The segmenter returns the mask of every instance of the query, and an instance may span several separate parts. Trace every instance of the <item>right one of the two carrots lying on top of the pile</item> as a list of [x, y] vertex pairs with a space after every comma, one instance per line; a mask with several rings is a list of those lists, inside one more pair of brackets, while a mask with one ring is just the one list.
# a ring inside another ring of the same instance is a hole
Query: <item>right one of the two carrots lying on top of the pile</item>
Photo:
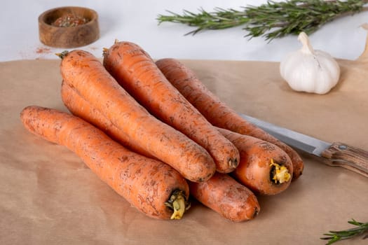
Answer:
[[150, 113], [203, 146], [217, 172], [229, 173], [238, 166], [236, 147], [168, 82], [139, 45], [116, 42], [105, 50], [104, 66]]

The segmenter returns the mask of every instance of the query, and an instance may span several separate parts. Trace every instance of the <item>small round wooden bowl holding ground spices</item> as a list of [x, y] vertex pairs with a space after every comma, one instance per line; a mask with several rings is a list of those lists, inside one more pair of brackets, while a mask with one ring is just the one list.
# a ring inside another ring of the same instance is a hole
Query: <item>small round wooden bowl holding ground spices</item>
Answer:
[[[67, 15], [85, 21], [74, 26], [55, 26], [57, 20]], [[95, 10], [61, 7], [47, 10], [39, 15], [39, 39], [45, 45], [55, 48], [76, 48], [93, 43], [99, 37], [98, 15]]]

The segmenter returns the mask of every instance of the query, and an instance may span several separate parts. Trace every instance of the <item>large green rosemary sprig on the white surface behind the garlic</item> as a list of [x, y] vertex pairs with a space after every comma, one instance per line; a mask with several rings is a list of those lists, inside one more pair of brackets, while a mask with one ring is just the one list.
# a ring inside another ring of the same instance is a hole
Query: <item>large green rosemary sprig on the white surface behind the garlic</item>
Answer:
[[245, 25], [245, 36], [264, 36], [266, 40], [280, 38], [301, 31], [311, 34], [322, 25], [336, 18], [353, 15], [368, 10], [364, 5], [368, 0], [287, 0], [267, 1], [261, 6], [233, 8], [214, 8], [199, 13], [183, 10], [182, 15], [168, 11], [170, 15], [158, 15], [158, 23], [175, 22], [197, 27], [187, 34], [197, 34], [205, 29], [226, 29]]

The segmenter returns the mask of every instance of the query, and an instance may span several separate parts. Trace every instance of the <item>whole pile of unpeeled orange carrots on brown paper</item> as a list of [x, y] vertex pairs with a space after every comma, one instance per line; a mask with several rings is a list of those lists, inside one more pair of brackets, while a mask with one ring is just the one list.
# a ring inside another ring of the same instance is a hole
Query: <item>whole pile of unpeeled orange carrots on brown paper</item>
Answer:
[[259, 214], [257, 195], [286, 190], [299, 155], [248, 123], [176, 59], [153, 59], [127, 41], [60, 54], [71, 113], [27, 106], [30, 132], [76, 153], [147, 216], [179, 219], [196, 198], [231, 221]]

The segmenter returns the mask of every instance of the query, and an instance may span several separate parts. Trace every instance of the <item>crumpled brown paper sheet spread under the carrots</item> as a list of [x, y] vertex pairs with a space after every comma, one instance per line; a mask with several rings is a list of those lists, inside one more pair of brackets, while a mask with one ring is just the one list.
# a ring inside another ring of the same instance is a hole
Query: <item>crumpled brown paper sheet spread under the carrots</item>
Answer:
[[[341, 81], [325, 95], [290, 90], [276, 62], [183, 62], [241, 113], [368, 150], [368, 72], [348, 70], [349, 61], [339, 61]], [[259, 197], [252, 221], [232, 223], [197, 202], [181, 221], [144, 216], [74, 153], [22, 127], [25, 106], [67, 111], [59, 64], [0, 63], [0, 244], [325, 244], [324, 232], [351, 228], [351, 218], [368, 221], [368, 179], [308, 155], [284, 193]]]

